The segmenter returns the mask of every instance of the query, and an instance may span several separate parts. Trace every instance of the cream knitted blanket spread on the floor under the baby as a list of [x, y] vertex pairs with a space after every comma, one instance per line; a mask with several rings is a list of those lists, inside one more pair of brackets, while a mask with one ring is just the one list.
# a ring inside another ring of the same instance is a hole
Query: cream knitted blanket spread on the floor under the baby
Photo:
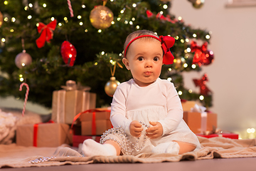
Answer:
[[[213, 158], [256, 157], [256, 139], [233, 140], [229, 138], [201, 138], [202, 149], [196, 152], [187, 152], [183, 155], [144, 153], [138, 156], [93, 156], [82, 157], [79, 152], [62, 145], [60, 147], [21, 147], [16, 144], [0, 145], [1, 167], [41, 167], [53, 165], [82, 165], [89, 163], [153, 163], [178, 162], [181, 160], [202, 160]], [[43, 157], [52, 157], [46, 162], [36, 161]]]

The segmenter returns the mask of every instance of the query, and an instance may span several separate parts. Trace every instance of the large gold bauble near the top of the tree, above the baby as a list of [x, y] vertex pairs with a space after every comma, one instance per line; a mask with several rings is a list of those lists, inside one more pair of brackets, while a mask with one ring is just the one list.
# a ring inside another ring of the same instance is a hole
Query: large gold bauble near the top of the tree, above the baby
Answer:
[[105, 29], [111, 26], [114, 14], [107, 6], [96, 6], [90, 12], [90, 22], [97, 29]]

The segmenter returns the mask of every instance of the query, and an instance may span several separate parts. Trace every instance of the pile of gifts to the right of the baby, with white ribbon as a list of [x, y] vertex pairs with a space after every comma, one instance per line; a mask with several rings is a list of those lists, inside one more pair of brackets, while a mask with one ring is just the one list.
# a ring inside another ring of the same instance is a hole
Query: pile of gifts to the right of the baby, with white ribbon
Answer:
[[206, 112], [206, 108], [196, 104], [195, 101], [182, 102], [183, 120], [198, 136], [205, 138], [225, 137], [238, 139], [238, 134], [223, 133], [217, 128], [217, 114]]

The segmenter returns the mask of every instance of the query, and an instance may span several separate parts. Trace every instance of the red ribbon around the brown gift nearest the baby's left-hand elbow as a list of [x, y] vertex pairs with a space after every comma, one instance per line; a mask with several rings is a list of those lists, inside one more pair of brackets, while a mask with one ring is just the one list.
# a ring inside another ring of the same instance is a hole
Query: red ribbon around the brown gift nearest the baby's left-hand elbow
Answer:
[[90, 110], [85, 110], [81, 113], [78, 113], [78, 115], [75, 115], [73, 122], [71, 124], [70, 134], [72, 133], [75, 120], [77, 120], [80, 117], [80, 115], [82, 115], [83, 113], [92, 113], [92, 135], [96, 135], [96, 113], [97, 112], [110, 112], [110, 111], [111, 110], [90, 109]]

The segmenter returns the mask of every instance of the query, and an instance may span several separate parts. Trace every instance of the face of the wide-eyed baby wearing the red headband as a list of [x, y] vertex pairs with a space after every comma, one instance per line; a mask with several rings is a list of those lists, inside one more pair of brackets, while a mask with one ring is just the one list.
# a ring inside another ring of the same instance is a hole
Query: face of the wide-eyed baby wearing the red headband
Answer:
[[123, 58], [123, 62], [139, 86], [149, 86], [159, 78], [163, 65], [160, 41], [154, 38], [139, 38], [131, 43], [127, 58]]

